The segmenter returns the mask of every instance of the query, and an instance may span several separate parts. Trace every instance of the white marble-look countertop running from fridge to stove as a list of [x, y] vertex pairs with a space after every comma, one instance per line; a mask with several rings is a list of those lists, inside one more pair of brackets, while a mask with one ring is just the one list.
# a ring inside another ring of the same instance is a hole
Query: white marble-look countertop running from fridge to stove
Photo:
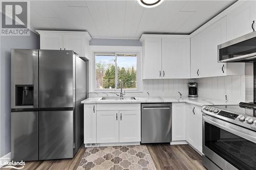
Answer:
[[216, 99], [207, 99], [207, 98], [177, 98], [175, 96], [168, 97], [136, 97], [138, 100], [100, 100], [101, 98], [88, 98], [83, 100], [83, 104], [104, 104], [104, 103], [190, 103], [198, 106], [203, 105], [237, 105], [237, 102], [216, 100]]

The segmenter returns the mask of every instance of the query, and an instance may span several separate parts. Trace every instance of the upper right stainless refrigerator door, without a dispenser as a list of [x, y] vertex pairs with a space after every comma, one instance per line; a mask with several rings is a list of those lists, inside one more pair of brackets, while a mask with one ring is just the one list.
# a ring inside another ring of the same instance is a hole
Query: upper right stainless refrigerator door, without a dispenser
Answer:
[[40, 108], [74, 107], [73, 58], [73, 51], [39, 50]]

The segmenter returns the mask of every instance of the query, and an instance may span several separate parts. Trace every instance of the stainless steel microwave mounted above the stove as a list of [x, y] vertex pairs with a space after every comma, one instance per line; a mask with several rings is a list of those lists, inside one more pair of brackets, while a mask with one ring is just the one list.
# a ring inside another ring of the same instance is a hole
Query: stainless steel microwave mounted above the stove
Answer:
[[256, 31], [218, 45], [218, 62], [256, 61]]

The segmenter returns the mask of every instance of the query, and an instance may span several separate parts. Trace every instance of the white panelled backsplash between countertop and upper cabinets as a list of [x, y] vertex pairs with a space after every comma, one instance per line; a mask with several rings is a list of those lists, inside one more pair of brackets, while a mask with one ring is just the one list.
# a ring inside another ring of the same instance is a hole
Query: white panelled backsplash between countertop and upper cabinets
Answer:
[[[202, 98], [242, 102], [245, 101], [245, 76], [226, 76], [200, 79], [143, 80], [143, 92], [126, 92], [125, 96], [188, 96], [188, 82], [198, 83], [198, 96]], [[118, 93], [119, 91], [116, 91]], [[105, 96], [106, 93], [90, 93], [90, 97]], [[108, 95], [115, 95], [108, 93]]]

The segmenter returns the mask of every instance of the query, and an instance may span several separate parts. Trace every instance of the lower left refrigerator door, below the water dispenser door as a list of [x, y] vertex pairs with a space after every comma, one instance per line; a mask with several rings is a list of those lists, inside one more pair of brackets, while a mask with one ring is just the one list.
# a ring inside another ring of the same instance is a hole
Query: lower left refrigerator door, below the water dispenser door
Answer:
[[11, 113], [11, 159], [38, 160], [38, 112]]

